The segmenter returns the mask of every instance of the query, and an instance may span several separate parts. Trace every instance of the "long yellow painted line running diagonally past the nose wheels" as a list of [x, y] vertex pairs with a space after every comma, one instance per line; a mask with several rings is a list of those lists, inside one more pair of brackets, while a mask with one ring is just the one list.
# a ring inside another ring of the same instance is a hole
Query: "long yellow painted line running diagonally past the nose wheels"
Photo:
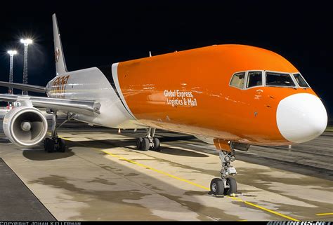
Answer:
[[[59, 136], [59, 137], [60, 137], [60, 136]], [[62, 138], [63, 138], [63, 137], [62, 137]], [[65, 139], [65, 138], [63, 138], [63, 139]], [[70, 139], [67, 139], [67, 140], [70, 141]], [[81, 144], [81, 143], [80, 143], [80, 144]], [[86, 146], [85, 144], [81, 144], [81, 145]], [[86, 146], [86, 147], [89, 147], [89, 146]], [[90, 147], [89, 147], [89, 148], [90, 148]], [[96, 148], [94, 148], [94, 149], [96, 149]], [[107, 151], [105, 151], [105, 150], [103, 150], [103, 149], [97, 149], [97, 150], [98, 150], [98, 151], [103, 151], [103, 153], [105, 153], [105, 154], [107, 154], [107, 155], [109, 155], [109, 156], [113, 156], [113, 157], [115, 157], [115, 158], [122, 159], [123, 161], [127, 161], [127, 162], [129, 162], [129, 163], [133, 163], [133, 164], [135, 164], [135, 165], [141, 166], [142, 168], [146, 168], [146, 169], [149, 169], [149, 170], [152, 170], [152, 171], [158, 172], [159, 174], [166, 175], [166, 176], [168, 176], [168, 177], [172, 177], [172, 178], [174, 178], [174, 179], [178, 179], [178, 180], [180, 180], [180, 181], [182, 181], [182, 182], [186, 182], [186, 183], [188, 183], [188, 184], [192, 184], [192, 185], [194, 185], [194, 186], [197, 186], [197, 187], [200, 187], [200, 188], [205, 189], [205, 190], [207, 190], [207, 191], [210, 191], [210, 189], [207, 188], [206, 186], [202, 186], [202, 185], [200, 185], [200, 184], [195, 184], [194, 182], [190, 182], [190, 181], [187, 180], [187, 179], [183, 179], [183, 178], [181, 178], [181, 177], [176, 177], [176, 176], [174, 176], [174, 175], [170, 175], [170, 174], [167, 173], [167, 172], [163, 172], [163, 171], [161, 171], [161, 170], [157, 170], [157, 169], [152, 168], [152, 167], [150, 167], [150, 166], [148, 166], [148, 165], [144, 165], [144, 164], [141, 164], [141, 163], [137, 163], [136, 161], [131, 161], [131, 160], [128, 159], [128, 158], [124, 158], [124, 157], [122, 157], [122, 156], [118, 156], [118, 155], [116, 155], [116, 154], [112, 154], [112, 153], [107, 152]], [[242, 202], [242, 203], [244, 203], [244, 204], [251, 205], [252, 207], [259, 208], [260, 210], [263, 210], [263, 211], [270, 212], [270, 213], [272, 213], [272, 214], [278, 215], [278, 216], [280, 216], [280, 217], [284, 217], [284, 218], [289, 219], [289, 220], [292, 220], [292, 221], [299, 221], [298, 219], [294, 219], [294, 218], [292, 218], [292, 217], [288, 217], [287, 215], [285, 215], [285, 214], [281, 214], [280, 212], [275, 212], [275, 211], [273, 211], [273, 210], [268, 210], [266, 207], [262, 207], [262, 206], [260, 206], [260, 205], [256, 205], [256, 204], [254, 204], [254, 203], [250, 203], [250, 202], [245, 201], [245, 200], [242, 200], [242, 199], [240, 199], [240, 198], [236, 198], [236, 197], [233, 197], [233, 196], [227, 196], [227, 197], [228, 197], [228, 198], [232, 198], [233, 200], [240, 201], [240, 202]]]

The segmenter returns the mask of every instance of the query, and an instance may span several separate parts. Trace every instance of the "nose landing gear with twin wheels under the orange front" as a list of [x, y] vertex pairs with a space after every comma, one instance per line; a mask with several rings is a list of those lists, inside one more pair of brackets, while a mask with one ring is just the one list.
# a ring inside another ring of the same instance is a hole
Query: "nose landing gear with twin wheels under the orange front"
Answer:
[[221, 159], [221, 178], [214, 178], [211, 180], [211, 191], [209, 192], [214, 196], [232, 196], [237, 193], [237, 183], [233, 177], [236, 175], [236, 169], [230, 162], [235, 161], [235, 150], [231, 149], [228, 151], [220, 151]]

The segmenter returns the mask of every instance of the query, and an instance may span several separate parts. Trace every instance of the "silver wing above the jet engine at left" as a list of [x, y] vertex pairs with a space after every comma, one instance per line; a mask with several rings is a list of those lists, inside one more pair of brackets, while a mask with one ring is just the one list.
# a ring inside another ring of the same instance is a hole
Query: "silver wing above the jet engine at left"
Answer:
[[100, 103], [93, 100], [67, 100], [52, 97], [0, 94], [0, 101], [31, 102], [34, 107], [44, 107], [89, 116], [100, 114]]

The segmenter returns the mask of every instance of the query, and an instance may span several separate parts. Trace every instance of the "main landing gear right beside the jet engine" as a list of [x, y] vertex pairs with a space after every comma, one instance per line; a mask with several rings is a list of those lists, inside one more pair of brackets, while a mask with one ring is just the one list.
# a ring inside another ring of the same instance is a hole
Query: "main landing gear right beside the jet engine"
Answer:
[[[65, 152], [66, 151], [66, 144], [63, 139], [58, 137], [57, 133], [57, 112], [56, 111], [49, 111], [48, 113], [52, 114], [52, 131], [51, 131], [51, 138], [46, 137], [44, 140], [44, 150], [47, 152]], [[68, 120], [64, 121], [59, 125], [66, 123]]]

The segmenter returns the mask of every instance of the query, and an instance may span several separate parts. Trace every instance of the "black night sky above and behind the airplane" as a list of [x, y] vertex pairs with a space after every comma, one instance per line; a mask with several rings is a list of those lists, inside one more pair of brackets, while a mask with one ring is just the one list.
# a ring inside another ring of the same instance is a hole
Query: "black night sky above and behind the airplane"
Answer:
[[3, 2], [1, 81], [8, 81], [6, 52], [15, 48], [20, 55], [14, 59], [14, 82], [22, 83], [22, 36], [34, 39], [28, 83], [45, 86], [55, 76], [51, 15], [56, 13], [69, 70], [147, 57], [149, 50], [159, 55], [213, 44], [257, 46], [292, 62], [332, 118], [333, 10], [328, 1]]

